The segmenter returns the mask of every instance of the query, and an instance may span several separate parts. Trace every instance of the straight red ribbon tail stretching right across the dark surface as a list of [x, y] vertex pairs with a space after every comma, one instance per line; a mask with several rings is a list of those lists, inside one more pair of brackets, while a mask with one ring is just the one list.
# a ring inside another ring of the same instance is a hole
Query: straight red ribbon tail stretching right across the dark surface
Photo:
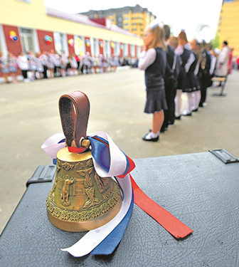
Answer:
[[169, 231], [170, 234], [175, 236], [176, 239], [182, 239], [193, 232], [193, 230], [179, 221], [179, 219], [176, 219], [169, 211], [166, 211], [166, 209], [150, 199], [147, 194], [144, 194], [136, 182], [134, 182], [132, 176], [130, 174], [129, 176], [134, 190], [134, 203], [139, 208], [149, 214], [149, 216], [152, 216], [153, 219], [161, 224], [166, 231]]

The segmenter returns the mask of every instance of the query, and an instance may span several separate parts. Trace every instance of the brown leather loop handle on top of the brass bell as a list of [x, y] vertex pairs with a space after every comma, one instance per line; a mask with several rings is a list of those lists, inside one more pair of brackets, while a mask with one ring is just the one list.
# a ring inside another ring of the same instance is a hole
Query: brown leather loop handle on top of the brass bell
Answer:
[[62, 95], [59, 99], [60, 120], [68, 147], [85, 147], [90, 102], [81, 91]]

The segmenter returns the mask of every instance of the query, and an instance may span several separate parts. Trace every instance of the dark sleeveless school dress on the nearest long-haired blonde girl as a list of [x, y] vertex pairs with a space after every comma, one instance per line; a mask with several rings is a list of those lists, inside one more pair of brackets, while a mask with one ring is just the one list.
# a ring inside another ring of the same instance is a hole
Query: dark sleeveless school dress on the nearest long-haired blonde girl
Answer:
[[156, 111], [167, 110], [164, 74], [166, 70], [166, 52], [163, 48], [155, 48], [156, 59], [145, 70], [145, 85], [147, 90], [147, 101], [144, 112], [154, 113]]

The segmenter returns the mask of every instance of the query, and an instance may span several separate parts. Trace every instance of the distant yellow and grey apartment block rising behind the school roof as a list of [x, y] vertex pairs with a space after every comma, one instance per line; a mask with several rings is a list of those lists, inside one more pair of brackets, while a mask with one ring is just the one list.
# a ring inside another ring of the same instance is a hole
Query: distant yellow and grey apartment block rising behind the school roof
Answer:
[[124, 6], [119, 9], [90, 10], [80, 14], [88, 16], [92, 21], [105, 19], [106, 23], [112, 23], [129, 33], [134, 33], [141, 37], [144, 35], [144, 28], [156, 19], [152, 12], [138, 4], [136, 6]]

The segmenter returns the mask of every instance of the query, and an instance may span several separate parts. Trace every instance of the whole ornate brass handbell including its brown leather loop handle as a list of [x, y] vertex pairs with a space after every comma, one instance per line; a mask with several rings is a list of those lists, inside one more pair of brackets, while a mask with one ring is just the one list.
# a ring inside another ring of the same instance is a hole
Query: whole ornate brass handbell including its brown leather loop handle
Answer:
[[48, 219], [65, 231], [96, 229], [117, 215], [121, 192], [114, 179], [95, 172], [86, 135], [90, 103], [85, 93], [62, 95], [59, 110], [67, 147], [57, 154], [55, 182], [46, 200]]

